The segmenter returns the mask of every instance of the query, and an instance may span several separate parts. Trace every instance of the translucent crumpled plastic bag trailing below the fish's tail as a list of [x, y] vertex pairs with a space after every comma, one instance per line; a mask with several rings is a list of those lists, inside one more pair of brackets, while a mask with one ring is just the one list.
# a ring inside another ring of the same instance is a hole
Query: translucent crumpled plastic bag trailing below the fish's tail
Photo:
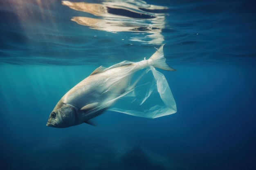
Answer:
[[177, 112], [175, 99], [164, 75], [153, 66], [137, 71], [129, 89], [108, 110], [128, 115], [157, 118]]

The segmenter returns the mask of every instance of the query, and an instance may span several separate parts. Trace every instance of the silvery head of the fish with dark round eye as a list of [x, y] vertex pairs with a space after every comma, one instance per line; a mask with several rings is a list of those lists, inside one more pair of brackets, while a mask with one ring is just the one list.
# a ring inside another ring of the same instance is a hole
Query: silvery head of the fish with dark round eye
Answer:
[[74, 126], [76, 117], [76, 109], [72, 105], [60, 104], [56, 105], [49, 116], [46, 126], [54, 128], [67, 128]]

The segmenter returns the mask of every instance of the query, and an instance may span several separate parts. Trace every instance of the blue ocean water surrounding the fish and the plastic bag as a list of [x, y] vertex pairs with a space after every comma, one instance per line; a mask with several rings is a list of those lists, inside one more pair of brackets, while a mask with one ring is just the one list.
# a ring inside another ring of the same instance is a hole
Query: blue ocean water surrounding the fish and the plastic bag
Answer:
[[[1, 0], [0, 169], [256, 169], [254, 4]], [[161, 44], [177, 70], [158, 69], [177, 113], [106, 111], [98, 127], [45, 126], [58, 100], [97, 67], [141, 61]]]

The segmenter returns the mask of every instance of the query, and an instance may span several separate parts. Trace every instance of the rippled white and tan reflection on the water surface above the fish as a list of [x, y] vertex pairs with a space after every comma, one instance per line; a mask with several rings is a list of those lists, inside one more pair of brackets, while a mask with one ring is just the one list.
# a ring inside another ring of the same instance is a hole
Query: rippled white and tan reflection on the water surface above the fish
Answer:
[[130, 37], [131, 41], [142, 44], [162, 44], [165, 27], [165, 12], [168, 7], [146, 4], [141, 0], [105, 1], [101, 4], [87, 2], [62, 1], [63, 5], [76, 11], [99, 16], [98, 18], [74, 16], [71, 20], [108, 32], [136, 32]]

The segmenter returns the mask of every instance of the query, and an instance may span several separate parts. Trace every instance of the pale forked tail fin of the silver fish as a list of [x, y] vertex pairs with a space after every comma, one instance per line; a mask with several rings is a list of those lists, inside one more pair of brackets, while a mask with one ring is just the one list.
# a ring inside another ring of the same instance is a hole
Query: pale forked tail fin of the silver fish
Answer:
[[160, 48], [148, 59], [151, 60], [152, 66], [155, 68], [160, 68], [162, 70], [167, 70], [167, 71], [176, 71], [174, 68], [171, 68], [168, 66], [166, 63], [166, 58], [164, 57], [164, 44], [160, 46]]

